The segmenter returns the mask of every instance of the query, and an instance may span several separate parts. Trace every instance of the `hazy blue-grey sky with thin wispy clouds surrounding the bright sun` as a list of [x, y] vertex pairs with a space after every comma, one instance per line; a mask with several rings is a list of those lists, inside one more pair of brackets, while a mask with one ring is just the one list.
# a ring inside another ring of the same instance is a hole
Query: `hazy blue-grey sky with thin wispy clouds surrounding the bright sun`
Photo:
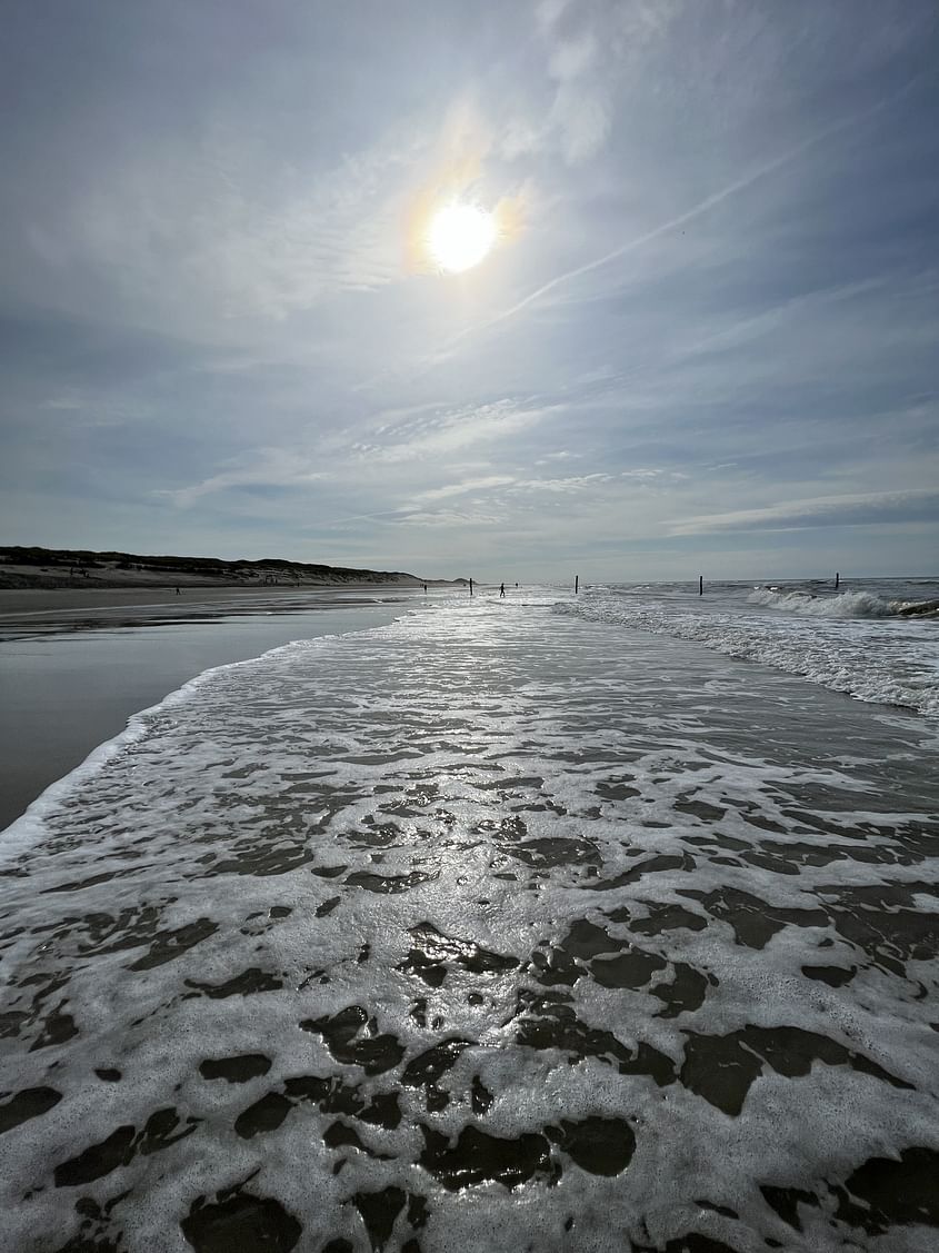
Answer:
[[934, 0], [3, 16], [0, 543], [939, 571]]

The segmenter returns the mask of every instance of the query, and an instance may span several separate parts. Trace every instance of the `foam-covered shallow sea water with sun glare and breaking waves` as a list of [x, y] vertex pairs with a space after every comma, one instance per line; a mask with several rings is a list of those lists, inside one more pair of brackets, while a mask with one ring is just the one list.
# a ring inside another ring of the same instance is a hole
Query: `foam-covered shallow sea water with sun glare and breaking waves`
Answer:
[[3, 1248], [934, 1249], [939, 583], [696, 593], [429, 595], [49, 788]]

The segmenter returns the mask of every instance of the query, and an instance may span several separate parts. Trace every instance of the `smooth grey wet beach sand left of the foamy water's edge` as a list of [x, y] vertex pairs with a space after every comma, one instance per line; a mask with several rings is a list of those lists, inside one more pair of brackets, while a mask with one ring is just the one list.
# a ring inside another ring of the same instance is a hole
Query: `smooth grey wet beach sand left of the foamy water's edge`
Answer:
[[[293, 639], [377, 626], [413, 595], [267, 590], [200, 589], [198, 600], [163, 601], [145, 589], [0, 593], [0, 831], [128, 718], [203, 670]], [[10, 613], [8, 598], [41, 604]], [[56, 604], [63, 598], [70, 608]]]

